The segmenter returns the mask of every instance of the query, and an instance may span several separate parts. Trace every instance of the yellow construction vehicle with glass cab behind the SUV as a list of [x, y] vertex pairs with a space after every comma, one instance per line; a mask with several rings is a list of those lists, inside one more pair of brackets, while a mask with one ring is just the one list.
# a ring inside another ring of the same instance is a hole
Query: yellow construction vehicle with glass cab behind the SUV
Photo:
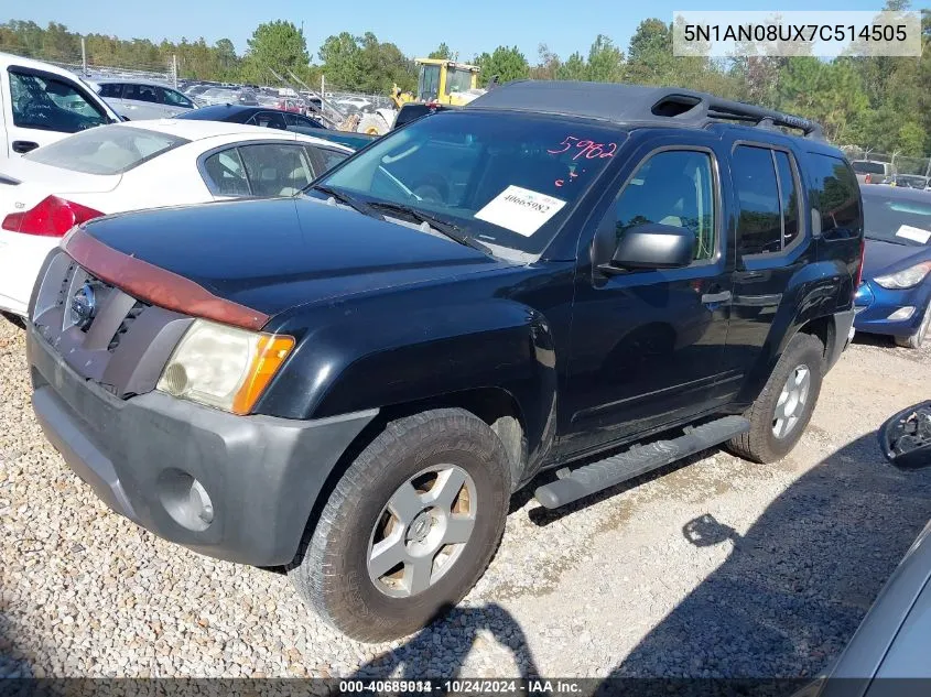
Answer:
[[397, 85], [391, 90], [393, 109], [376, 109], [359, 120], [360, 133], [382, 135], [391, 130], [394, 117], [407, 104], [467, 105], [484, 94], [478, 88], [478, 66], [444, 58], [414, 58], [420, 66], [416, 94], [402, 91]]

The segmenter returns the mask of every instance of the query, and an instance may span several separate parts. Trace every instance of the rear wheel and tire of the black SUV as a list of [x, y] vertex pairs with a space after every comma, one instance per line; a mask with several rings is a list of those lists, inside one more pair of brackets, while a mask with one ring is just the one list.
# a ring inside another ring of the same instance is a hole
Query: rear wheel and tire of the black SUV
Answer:
[[821, 340], [801, 333], [792, 337], [762, 392], [744, 414], [750, 429], [732, 438], [727, 449], [755, 462], [775, 462], [786, 457], [811, 420], [823, 371]]

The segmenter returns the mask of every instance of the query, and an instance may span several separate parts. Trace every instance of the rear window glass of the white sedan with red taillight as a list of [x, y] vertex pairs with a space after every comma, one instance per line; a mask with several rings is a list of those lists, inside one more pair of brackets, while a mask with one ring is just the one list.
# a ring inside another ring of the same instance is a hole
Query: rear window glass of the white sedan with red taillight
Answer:
[[156, 131], [105, 126], [50, 143], [23, 157], [85, 174], [121, 174], [187, 142]]

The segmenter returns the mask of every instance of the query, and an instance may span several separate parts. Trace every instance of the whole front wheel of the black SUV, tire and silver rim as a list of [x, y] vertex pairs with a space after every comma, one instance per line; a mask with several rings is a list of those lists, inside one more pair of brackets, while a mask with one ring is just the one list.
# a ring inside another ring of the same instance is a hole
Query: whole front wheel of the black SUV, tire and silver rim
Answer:
[[505, 530], [508, 471], [498, 436], [464, 410], [393, 421], [339, 479], [289, 576], [353, 639], [410, 634], [484, 574]]

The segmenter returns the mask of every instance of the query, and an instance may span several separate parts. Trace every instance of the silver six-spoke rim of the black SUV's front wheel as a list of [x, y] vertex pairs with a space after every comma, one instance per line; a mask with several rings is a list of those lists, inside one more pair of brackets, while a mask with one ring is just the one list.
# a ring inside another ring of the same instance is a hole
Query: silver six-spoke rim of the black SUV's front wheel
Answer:
[[396, 598], [423, 592], [462, 555], [475, 527], [475, 482], [456, 465], [418, 472], [388, 499], [369, 537], [369, 578]]

